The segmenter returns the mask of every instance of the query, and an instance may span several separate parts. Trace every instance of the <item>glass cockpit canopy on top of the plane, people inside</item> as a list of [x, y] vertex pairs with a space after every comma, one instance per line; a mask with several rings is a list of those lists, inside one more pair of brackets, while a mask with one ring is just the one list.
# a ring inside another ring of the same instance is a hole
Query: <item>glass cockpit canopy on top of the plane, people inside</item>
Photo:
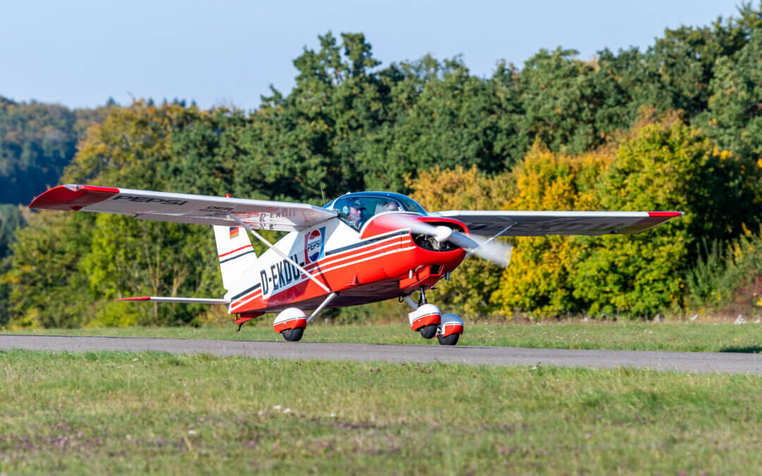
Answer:
[[426, 215], [424, 208], [409, 196], [392, 192], [347, 193], [325, 206], [334, 209], [338, 217], [356, 230], [365, 225], [372, 216], [384, 212], [409, 212]]

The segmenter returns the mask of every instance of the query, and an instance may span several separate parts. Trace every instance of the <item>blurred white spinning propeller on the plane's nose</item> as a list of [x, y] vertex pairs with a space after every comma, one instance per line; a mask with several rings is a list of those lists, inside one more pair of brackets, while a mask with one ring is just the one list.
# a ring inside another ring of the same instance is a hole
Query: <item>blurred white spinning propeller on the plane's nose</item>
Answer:
[[513, 246], [501, 241], [495, 241], [496, 237], [486, 238], [479, 235], [466, 235], [456, 232], [453, 228], [444, 225], [430, 225], [427, 222], [421, 222], [409, 215], [402, 213], [389, 213], [384, 215], [384, 222], [396, 227], [410, 228], [410, 231], [418, 235], [427, 235], [434, 238], [439, 243], [450, 242], [458, 248], [468, 250], [478, 257], [507, 267], [511, 263], [511, 251]]

